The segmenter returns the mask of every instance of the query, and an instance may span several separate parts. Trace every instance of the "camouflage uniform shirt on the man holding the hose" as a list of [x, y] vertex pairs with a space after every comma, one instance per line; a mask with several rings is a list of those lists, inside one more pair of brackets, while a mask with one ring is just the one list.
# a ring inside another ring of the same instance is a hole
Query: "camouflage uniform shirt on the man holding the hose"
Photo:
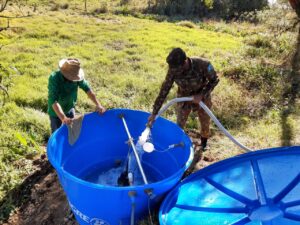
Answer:
[[213, 66], [209, 61], [202, 58], [193, 57], [188, 58], [188, 60], [190, 62], [188, 71], [169, 68], [159, 95], [154, 102], [152, 114], [158, 113], [174, 82], [178, 86], [178, 97], [196, 94], [202, 94], [204, 98], [210, 96], [211, 91], [219, 82]]

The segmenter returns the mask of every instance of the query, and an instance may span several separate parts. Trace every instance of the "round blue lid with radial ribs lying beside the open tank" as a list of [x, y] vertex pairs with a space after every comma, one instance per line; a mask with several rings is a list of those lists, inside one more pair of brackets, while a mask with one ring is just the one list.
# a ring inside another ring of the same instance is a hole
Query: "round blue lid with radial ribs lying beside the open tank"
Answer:
[[259, 150], [206, 167], [166, 197], [161, 225], [300, 225], [300, 147]]

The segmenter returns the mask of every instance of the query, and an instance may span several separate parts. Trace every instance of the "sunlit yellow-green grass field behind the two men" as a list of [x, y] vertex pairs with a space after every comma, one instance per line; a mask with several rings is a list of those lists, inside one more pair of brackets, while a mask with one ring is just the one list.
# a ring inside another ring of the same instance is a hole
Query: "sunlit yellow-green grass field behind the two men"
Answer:
[[[286, 83], [274, 66], [289, 56], [292, 33], [272, 39], [268, 31], [260, 33], [265, 27], [248, 23], [159, 22], [73, 9], [39, 11], [11, 20], [10, 26], [0, 33], [0, 62], [15, 68], [5, 80], [9, 99], [0, 108], [0, 200], [32, 171], [31, 159], [44, 151], [39, 146], [50, 135], [47, 81], [66, 57], [81, 60], [105, 107], [150, 112], [166, 74], [165, 58], [173, 47], [181, 47], [189, 56], [213, 63], [221, 80], [213, 111], [243, 144], [253, 149], [300, 144], [300, 109], [282, 105]], [[93, 110], [83, 92], [77, 110]], [[175, 121], [174, 109], [164, 116]], [[197, 126], [191, 116], [187, 127]], [[240, 153], [214, 126], [212, 134], [207, 154], [221, 160]]]

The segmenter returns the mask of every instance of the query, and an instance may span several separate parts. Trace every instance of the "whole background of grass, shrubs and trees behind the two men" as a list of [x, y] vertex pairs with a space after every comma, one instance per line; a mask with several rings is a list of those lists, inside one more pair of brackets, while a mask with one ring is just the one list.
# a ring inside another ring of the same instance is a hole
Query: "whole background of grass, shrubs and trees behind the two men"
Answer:
[[[0, 17], [0, 221], [16, 210], [7, 193], [45, 153], [48, 77], [65, 57], [82, 61], [105, 107], [150, 112], [165, 57], [181, 47], [218, 71], [213, 112], [239, 141], [253, 149], [299, 145], [296, 21], [284, 2], [264, 0], [8, 1]], [[92, 110], [80, 92], [77, 111]], [[164, 116], [175, 121], [174, 108]], [[187, 129], [197, 127], [192, 115]], [[241, 153], [214, 125], [210, 144], [205, 154], [215, 160]]]

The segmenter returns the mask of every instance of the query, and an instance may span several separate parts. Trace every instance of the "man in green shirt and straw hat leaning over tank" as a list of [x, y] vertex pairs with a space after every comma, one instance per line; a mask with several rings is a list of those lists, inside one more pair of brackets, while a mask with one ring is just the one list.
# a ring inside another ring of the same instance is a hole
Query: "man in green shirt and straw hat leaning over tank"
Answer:
[[71, 124], [75, 116], [78, 87], [85, 91], [96, 105], [96, 111], [103, 114], [106, 109], [97, 100], [90, 85], [84, 79], [83, 69], [78, 59], [62, 59], [59, 70], [54, 71], [48, 83], [48, 114], [52, 133], [62, 123]]

